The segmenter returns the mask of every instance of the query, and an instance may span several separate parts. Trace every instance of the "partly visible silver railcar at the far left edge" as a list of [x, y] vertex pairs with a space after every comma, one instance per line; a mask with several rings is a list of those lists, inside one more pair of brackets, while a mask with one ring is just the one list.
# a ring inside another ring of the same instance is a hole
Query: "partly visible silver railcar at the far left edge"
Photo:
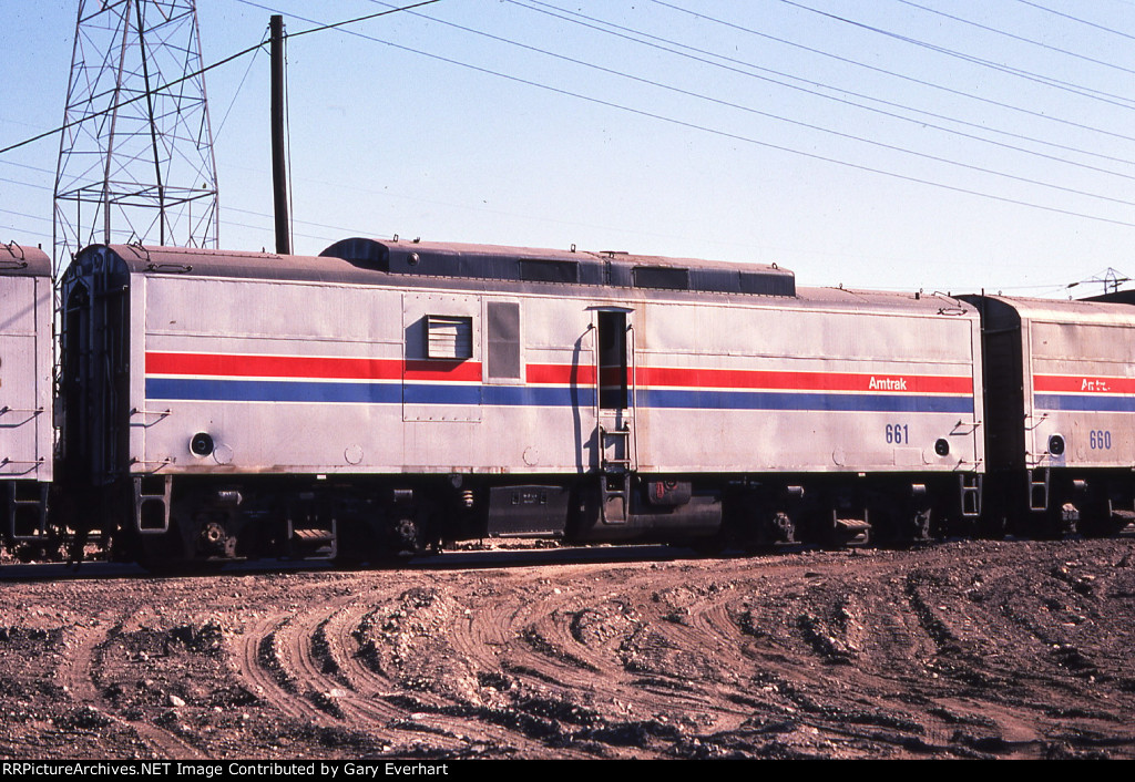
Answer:
[[7, 541], [43, 536], [52, 455], [51, 261], [0, 244], [0, 523]]

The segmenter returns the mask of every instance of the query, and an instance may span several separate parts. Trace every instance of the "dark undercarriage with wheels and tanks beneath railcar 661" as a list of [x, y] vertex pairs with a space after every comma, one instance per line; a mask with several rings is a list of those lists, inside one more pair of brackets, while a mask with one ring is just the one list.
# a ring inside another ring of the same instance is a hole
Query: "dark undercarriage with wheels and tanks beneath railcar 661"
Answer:
[[[255, 558], [389, 562], [491, 538], [756, 552], [915, 545], [990, 531], [982, 524], [982, 481], [973, 474], [928, 481], [925, 474], [900, 473], [625, 473], [615, 487], [609, 478], [151, 476], [75, 504], [69, 527], [90, 527], [76, 537], [103, 540], [111, 557], [154, 569]], [[1090, 495], [1094, 504], [1086, 504], [1085, 513], [1107, 508], [1109, 519], [1126, 519], [1115, 510], [1113, 488]], [[92, 519], [95, 513], [101, 519]], [[1102, 522], [1079, 527], [1093, 533], [1120, 529]], [[1068, 531], [1039, 524], [1033, 535]]]

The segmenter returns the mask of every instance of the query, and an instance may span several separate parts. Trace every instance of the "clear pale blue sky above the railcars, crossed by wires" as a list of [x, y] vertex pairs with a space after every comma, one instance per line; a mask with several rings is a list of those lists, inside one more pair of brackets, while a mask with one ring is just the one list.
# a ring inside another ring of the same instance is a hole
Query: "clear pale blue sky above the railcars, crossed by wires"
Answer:
[[[203, 58], [272, 11], [381, 7], [199, 0]], [[0, 146], [60, 124], [76, 9], [0, 7]], [[442, 0], [295, 37], [288, 81], [301, 253], [400, 234], [1026, 295], [1135, 275], [1129, 0]], [[220, 243], [271, 247], [267, 53], [207, 83]], [[58, 151], [0, 154], [0, 241], [50, 245]]]

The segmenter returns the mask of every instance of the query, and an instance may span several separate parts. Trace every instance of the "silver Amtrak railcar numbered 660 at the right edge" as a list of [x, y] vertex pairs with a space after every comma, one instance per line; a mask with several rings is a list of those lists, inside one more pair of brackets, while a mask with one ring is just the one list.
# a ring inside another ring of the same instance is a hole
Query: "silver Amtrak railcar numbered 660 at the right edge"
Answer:
[[982, 312], [991, 498], [1034, 535], [1135, 520], [1135, 310], [968, 296]]

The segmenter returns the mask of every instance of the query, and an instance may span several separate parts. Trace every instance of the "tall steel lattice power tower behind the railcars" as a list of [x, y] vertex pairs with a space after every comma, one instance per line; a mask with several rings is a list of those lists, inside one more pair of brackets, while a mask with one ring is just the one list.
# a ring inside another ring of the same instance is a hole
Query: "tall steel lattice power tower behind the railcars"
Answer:
[[216, 247], [195, 0], [79, 0], [54, 192], [56, 263], [93, 243]]

